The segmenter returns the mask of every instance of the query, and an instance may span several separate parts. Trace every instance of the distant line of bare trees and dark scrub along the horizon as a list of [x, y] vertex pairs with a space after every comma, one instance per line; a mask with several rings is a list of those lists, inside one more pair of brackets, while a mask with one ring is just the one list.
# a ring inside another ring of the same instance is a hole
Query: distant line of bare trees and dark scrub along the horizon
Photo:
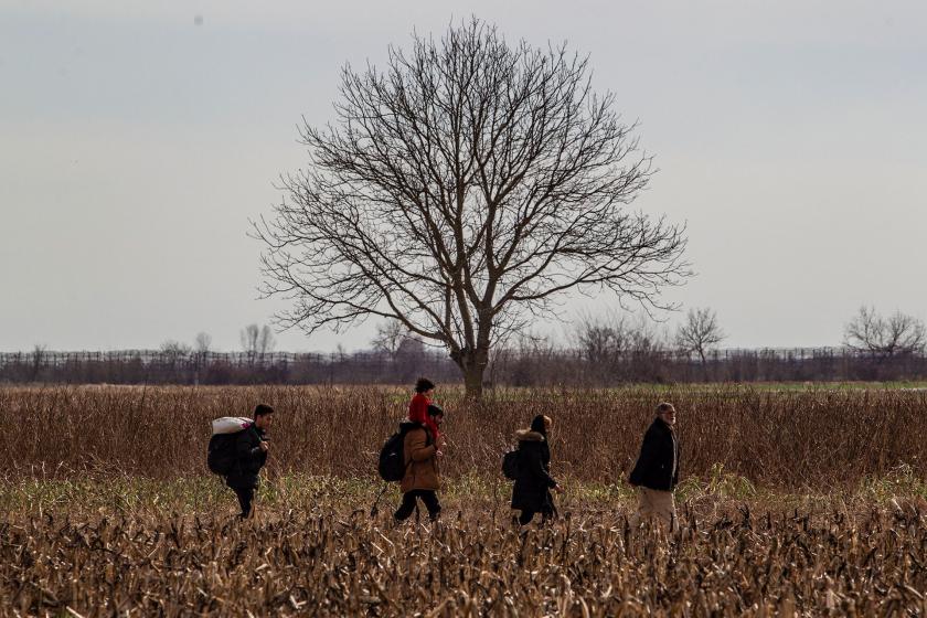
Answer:
[[[862, 308], [841, 348], [720, 349], [717, 316], [692, 309], [674, 333], [640, 317], [583, 317], [565, 343], [529, 334], [497, 349], [487, 386], [612, 386], [624, 383], [888, 381], [927, 379], [923, 322]], [[396, 321], [377, 327], [371, 349], [331, 353], [275, 352], [273, 332], [241, 332], [242, 351], [216, 352], [206, 333], [194, 345], [159, 350], [0, 353], [0, 382], [111, 384], [408, 384], [418, 375], [461, 382], [447, 352]]]

